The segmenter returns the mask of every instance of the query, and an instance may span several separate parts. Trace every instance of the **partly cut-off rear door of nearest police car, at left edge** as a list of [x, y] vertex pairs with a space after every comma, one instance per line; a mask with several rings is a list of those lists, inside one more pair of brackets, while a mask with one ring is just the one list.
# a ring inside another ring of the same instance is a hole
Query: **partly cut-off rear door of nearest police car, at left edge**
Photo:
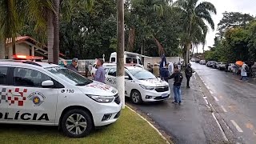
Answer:
[[8, 67], [0, 66], [0, 122], [7, 122], [8, 119], [5, 118], [8, 114]]

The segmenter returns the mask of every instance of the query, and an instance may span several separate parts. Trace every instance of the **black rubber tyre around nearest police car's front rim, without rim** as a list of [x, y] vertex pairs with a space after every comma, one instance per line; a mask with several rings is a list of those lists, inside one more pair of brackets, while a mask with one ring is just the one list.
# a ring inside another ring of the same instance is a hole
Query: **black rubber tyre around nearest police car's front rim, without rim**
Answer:
[[[66, 120], [69, 118], [72, 114], [81, 114], [87, 122], [86, 130], [82, 134], [71, 134], [69, 130], [66, 129]], [[62, 131], [66, 136], [70, 138], [83, 138], [86, 137], [86, 135], [90, 134], [90, 131], [93, 129], [93, 122], [90, 117], [90, 114], [88, 114], [85, 110], [80, 109], [74, 109], [66, 112], [62, 118]]]

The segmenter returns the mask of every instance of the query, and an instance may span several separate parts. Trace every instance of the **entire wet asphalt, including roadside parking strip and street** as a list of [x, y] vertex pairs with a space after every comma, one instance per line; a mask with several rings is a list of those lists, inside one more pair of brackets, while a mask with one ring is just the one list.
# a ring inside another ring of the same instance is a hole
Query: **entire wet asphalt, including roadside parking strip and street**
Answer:
[[[130, 105], [175, 143], [256, 143], [255, 82], [240, 82], [238, 76], [196, 63], [192, 67], [196, 73], [190, 89], [184, 78], [181, 106], [172, 104], [173, 98]], [[170, 89], [172, 92], [172, 80]]]

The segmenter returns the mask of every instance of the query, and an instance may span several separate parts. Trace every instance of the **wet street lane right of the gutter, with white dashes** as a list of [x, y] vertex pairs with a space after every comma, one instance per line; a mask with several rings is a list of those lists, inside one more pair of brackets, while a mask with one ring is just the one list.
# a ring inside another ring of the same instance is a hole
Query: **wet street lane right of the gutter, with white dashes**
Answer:
[[226, 125], [242, 143], [256, 143], [256, 84], [238, 75], [193, 63], [194, 70], [214, 97]]

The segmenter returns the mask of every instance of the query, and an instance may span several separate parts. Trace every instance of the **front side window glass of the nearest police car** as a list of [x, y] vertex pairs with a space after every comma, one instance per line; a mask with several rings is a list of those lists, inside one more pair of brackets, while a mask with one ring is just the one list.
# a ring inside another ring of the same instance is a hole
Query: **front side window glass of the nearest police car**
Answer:
[[14, 86], [42, 87], [42, 82], [51, 80], [37, 70], [14, 68]]

